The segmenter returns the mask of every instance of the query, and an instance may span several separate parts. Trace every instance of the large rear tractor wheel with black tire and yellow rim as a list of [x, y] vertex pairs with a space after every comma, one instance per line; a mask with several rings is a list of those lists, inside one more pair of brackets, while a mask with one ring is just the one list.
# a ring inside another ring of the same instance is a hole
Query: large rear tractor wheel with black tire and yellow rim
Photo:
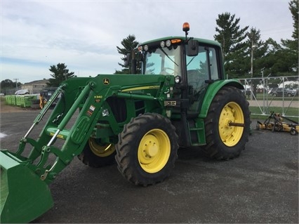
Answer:
[[[239, 88], [224, 86], [218, 91], [204, 120], [207, 144], [204, 151], [208, 157], [232, 159], [244, 150], [251, 124], [248, 104]], [[230, 122], [244, 127], [229, 126]]]

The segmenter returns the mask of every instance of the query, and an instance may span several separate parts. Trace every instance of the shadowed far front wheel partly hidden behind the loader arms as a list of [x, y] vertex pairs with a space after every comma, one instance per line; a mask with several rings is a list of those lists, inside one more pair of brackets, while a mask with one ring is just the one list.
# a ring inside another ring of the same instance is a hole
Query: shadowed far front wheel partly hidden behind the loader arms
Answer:
[[99, 139], [89, 138], [78, 158], [87, 166], [98, 168], [114, 164], [115, 154], [113, 144], [102, 144]]

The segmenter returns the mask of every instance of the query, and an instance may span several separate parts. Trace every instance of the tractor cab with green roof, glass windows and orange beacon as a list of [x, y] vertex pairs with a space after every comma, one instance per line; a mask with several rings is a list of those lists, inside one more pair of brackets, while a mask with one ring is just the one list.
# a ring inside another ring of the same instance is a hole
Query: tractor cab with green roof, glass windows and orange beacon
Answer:
[[175, 96], [189, 100], [187, 114], [197, 117], [209, 84], [223, 79], [220, 44], [216, 41], [187, 37], [165, 37], [140, 44], [142, 74], [175, 77]]

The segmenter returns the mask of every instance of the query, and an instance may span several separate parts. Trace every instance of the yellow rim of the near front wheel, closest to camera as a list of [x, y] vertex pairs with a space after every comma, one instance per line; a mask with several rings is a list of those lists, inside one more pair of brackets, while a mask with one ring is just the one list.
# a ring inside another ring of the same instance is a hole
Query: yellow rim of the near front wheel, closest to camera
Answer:
[[171, 154], [171, 142], [161, 129], [152, 129], [140, 141], [138, 162], [147, 173], [157, 173], [164, 168]]

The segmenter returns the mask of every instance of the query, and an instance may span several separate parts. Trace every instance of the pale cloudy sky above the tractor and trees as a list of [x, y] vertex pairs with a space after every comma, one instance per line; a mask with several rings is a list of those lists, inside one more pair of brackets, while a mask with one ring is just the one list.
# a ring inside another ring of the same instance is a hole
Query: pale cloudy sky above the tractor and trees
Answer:
[[260, 29], [261, 39], [292, 39], [289, 0], [1, 0], [0, 81], [22, 84], [51, 78], [65, 63], [77, 77], [121, 70], [122, 39], [185, 36], [214, 39], [218, 15], [240, 18], [240, 28]]

